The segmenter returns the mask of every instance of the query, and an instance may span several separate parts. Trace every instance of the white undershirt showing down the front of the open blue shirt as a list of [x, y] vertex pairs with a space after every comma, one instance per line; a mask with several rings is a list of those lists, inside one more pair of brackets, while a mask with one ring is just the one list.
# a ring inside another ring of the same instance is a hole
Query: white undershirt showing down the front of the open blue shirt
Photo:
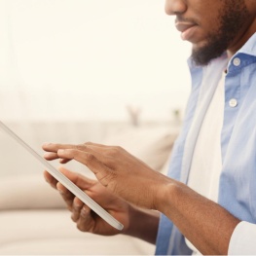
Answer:
[[[222, 169], [221, 129], [224, 117], [225, 73], [219, 81], [203, 119], [193, 154], [188, 186], [209, 200], [218, 200], [219, 177]], [[187, 245], [201, 254], [186, 239]]]

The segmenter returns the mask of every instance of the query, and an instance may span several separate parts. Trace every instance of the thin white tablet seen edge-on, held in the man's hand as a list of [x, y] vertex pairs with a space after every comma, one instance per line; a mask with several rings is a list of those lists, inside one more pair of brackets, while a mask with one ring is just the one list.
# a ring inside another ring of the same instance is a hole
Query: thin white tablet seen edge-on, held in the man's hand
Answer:
[[104, 210], [100, 205], [84, 193], [79, 187], [77, 187], [71, 180], [69, 180], [64, 174], [58, 171], [53, 165], [50, 165], [43, 157], [41, 157], [36, 151], [34, 151], [28, 144], [26, 144], [18, 135], [5, 124], [0, 121], [0, 128], [5, 130], [12, 138], [14, 138], [18, 144], [25, 148], [32, 156], [34, 156], [38, 161], [47, 167], [47, 170], [58, 180], [63, 186], [65, 186], [70, 192], [72, 192], [81, 201], [85, 202], [91, 210], [98, 214], [102, 219], [104, 219], [112, 227], [123, 230], [124, 225], [111, 216], [106, 210]]

